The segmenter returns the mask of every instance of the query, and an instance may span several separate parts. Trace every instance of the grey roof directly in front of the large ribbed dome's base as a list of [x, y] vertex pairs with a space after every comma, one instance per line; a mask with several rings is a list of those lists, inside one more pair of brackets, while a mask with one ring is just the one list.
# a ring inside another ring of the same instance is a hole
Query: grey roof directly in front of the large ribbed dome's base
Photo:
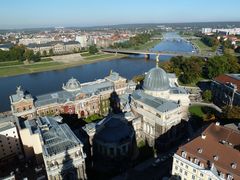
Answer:
[[179, 104], [174, 101], [150, 96], [142, 90], [134, 91], [132, 93], [132, 98], [158, 110], [159, 112], [171, 111], [179, 107]]

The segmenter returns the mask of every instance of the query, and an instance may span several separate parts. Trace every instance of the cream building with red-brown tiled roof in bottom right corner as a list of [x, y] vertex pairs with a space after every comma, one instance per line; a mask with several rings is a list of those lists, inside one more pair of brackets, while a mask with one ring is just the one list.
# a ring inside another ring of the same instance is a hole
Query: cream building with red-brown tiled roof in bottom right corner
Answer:
[[212, 123], [202, 133], [178, 148], [172, 175], [179, 179], [240, 179], [240, 133]]

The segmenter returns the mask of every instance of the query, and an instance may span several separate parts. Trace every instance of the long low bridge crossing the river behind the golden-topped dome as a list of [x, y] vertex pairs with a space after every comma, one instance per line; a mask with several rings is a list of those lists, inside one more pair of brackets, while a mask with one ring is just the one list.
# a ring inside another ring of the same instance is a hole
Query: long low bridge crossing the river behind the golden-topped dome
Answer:
[[129, 54], [129, 55], [144, 55], [149, 59], [150, 55], [166, 55], [166, 56], [198, 56], [203, 58], [209, 58], [210, 55], [192, 53], [192, 52], [170, 52], [170, 51], [143, 51], [143, 50], [121, 50], [121, 49], [103, 49], [102, 52], [115, 53], [115, 54]]

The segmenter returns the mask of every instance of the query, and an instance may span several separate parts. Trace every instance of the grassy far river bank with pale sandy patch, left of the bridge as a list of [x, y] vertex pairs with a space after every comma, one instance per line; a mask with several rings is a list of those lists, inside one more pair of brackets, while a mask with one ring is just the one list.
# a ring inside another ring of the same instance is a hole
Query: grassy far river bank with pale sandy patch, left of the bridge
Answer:
[[[158, 44], [159, 40], [151, 40], [145, 44], [142, 44], [137, 48], [138, 50], [149, 50], [150, 48], [154, 47]], [[79, 56], [79, 57], [76, 57]], [[72, 57], [71, 57], [72, 56]], [[66, 69], [76, 66], [81, 66], [84, 64], [91, 64], [100, 61], [109, 61], [114, 59], [120, 59], [127, 57], [128, 55], [122, 54], [107, 54], [107, 53], [99, 53], [96, 55], [84, 55], [81, 56], [79, 54], [70, 54], [70, 55], [61, 55], [61, 56], [53, 56], [51, 57], [53, 61], [44, 61], [36, 62], [32, 64], [23, 64], [17, 61], [11, 63], [10, 61], [7, 62], [9, 66], [1, 66], [0, 64], [0, 78], [1, 77], [10, 77], [10, 76], [17, 76], [22, 74], [32, 74], [38, 72], [45, 72], [45, 71], [52, 71], [52, 70], [60, 70]]]

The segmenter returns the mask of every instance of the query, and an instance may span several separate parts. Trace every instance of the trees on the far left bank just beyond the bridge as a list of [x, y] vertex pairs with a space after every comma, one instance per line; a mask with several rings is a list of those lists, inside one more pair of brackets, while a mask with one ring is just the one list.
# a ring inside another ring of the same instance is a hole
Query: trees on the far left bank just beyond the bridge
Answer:
[[144, 44], [150, 40], [152, 34], [150, 33], [141, 33], [137, 34], [134, 37], [131, 37], [128, 41], [115, 43], [111, 48], [130, 48], [135, 47], [141, 44]]

